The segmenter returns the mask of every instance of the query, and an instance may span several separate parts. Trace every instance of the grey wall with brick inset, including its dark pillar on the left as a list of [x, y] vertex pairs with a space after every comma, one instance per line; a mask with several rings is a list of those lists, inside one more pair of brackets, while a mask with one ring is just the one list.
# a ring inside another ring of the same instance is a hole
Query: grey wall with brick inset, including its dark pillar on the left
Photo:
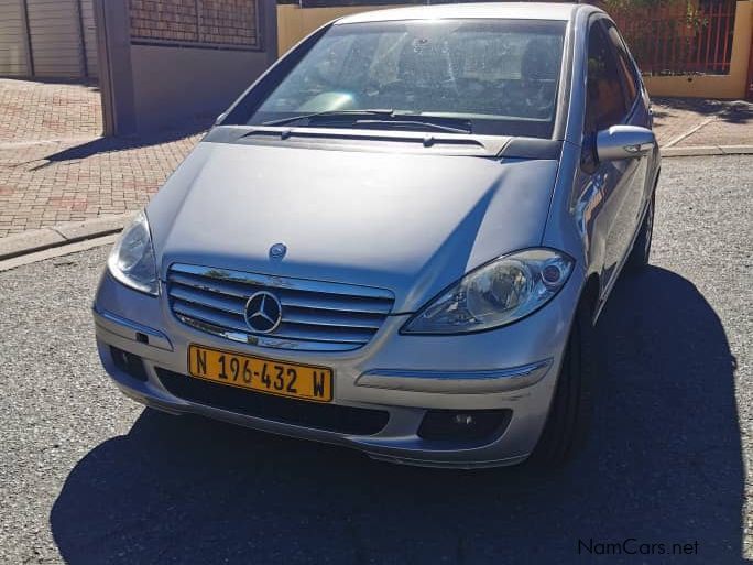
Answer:
[[106, 134], [206, 124], [277, 58], [274, 0], [96, 0], [95, 8]]

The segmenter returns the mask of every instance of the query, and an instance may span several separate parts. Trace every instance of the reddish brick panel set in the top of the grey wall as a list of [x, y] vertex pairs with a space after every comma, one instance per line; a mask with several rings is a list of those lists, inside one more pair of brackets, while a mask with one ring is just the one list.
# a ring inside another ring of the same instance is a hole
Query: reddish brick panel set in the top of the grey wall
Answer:
[[130, 0], [131, 37], [260, 47], [260, 0]]

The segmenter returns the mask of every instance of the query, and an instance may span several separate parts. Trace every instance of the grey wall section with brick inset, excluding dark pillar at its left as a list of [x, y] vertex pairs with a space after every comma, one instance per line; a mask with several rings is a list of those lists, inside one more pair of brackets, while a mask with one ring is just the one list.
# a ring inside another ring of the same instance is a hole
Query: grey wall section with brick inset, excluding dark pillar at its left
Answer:
[[[265, 7], [274, 3], [130, 0], [138, 130], [206, 122], [226, 110], [276, 59], [276, 13]], [[269, 42], [272, 51], [263, 51]]]

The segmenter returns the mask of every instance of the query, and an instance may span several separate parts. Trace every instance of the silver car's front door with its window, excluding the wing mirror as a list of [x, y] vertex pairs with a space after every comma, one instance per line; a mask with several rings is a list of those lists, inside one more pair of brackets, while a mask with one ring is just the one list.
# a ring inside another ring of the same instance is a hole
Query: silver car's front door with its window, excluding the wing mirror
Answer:
[[581, 164], [581, 169], [588, 175], [589, 192], [598, 193], [601, 203], [594, 220], [593, 245], [600, 247], [597, 251], [602, 261], [602, 295], [611, 289], [630, 251], [637, 226], [637, 208], [641, 207], [645, 185], [645, 163], [641, 164], [645, 159], [599, 162], [596, 156], [597, 133], [611, 126], [633, 124], [639, 99], [629, 91], [624, 77], [620, 74], [620, 59], [616, 47], [609, 36], [607, 22], [609, 20], [604, 18], [594, 19], [588, 33], [588, 78]]

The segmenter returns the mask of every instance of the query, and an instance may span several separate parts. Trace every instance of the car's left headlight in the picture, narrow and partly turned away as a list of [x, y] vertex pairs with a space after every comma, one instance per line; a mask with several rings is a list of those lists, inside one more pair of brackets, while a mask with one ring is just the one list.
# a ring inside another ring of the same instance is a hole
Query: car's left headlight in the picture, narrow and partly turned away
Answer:
[[107, 267], [126, 286], [154, 296], [159, 293], [156, 262], [146, 215], [140, 211], [110, 251]]

